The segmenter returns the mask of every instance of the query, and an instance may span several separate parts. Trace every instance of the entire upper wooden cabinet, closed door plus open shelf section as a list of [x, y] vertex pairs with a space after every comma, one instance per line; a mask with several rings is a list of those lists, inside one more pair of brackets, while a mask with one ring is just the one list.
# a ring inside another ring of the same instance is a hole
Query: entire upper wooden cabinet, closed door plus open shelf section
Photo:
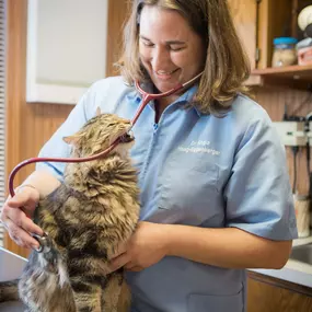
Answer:
[[[235, 28], [250, 57], [250, 85], [310, 88], [312, 66], [271, 68], [276, 37], [303, 38], [297, 25], [299, 12], [307, 0], [228, 0]], [[311, 4], [311, 1], [310, 1]]]

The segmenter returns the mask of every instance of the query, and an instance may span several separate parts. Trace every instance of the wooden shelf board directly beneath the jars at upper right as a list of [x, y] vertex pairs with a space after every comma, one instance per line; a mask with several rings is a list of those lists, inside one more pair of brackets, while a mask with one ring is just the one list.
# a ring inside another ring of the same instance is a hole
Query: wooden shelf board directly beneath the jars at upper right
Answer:
[[312, 65], [254, 69], [246, 85], [311, 89]]

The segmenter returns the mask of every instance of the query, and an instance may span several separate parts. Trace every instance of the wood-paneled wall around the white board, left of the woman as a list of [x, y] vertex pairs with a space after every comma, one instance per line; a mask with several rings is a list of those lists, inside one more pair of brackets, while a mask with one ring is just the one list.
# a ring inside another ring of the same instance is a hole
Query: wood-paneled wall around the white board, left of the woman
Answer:
[[[124, 0], [108, 1], [107, 76], [116, 73], [113, 62], [118, 59], [117, 51], [122, 43], [120, 25], [126, 10]], [[7, 180], [18, 163], [38, 153], [43, 143], [49, 139], [73, 107], [25, 102], [26, 11], [26, 0], [8, 0]], [[14, 185], [19, 185], [33, 169], [34, 165], [22, 169], [14, 180]], [[4, 245], [21, 255], [27, 254], [27, 251], [16, 246], [8, 236]]]

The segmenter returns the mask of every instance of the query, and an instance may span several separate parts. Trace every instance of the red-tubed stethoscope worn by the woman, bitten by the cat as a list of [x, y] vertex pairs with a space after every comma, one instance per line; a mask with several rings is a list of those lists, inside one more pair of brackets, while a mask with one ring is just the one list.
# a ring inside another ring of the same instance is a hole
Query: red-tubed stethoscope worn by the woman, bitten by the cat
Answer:
[[175, 88], [163, 92], [163, 93], [158, 93], [158, 94], [153, 94], [153, 93], [148, 93], [146, 91], [143, 91], [139, 84], [138, 81], [135, 81], [135, 86], [136, 90], [141, 94], [142, 96], [142, 102], [141, 105], [139, 106], [138, 111], [136, 112], [136, 115], [134, 117], [134, 119], [131, 120], [131, 126], [129, 129], [127, 129], [127, 131], [123, 135], [120, 135], [115, 141], [113, 141], [113, 143], [104, 151], [91, 155], [91, 157], [86, 157], [86, 158], [31, 158], [27, 159], [21, 163], [19, 163], [10, 173], [9, 175], [9, 192], [11, 197], [13, 197], [15, 195], [14, 192], [14, 177], [18, 173], [19, 170], [21, 170], [23, 166], [27, 165], [27, 164], [32, 164], [32, 163], [36, 163], [36, 162], [88, 162], [88, 161], [92, 161], [95, 160], [97, 158], [103, 158], [106, 154], [108, 154], [112, 150], [114, 150], [116, 148], [116, 146], [123, 141], [123, 138], [131, 130], [131, 128], [135, 126], [135, 124], [137, 123], [139, 116], [141, 115], [142, 111], [145, 109], [145, 107], [147, 106], [147, 104], [152, 101], [152, 100], [157, 100], [157, 99], [162, 99], [169, 95], [172, 95], [181, 90], [183, 90], [184, 88], [186, 88], [187, 85], [190, 85], [192, 83], [194, 83], [198, 78], [200, 78], [200, 76], [203, 74], [203, 72], [200, 72], [199, 74], [195, 76], [194, 78], [192, 78], [190, 80], [188, 80], [187, 82], [184, 83], [178, 83]]

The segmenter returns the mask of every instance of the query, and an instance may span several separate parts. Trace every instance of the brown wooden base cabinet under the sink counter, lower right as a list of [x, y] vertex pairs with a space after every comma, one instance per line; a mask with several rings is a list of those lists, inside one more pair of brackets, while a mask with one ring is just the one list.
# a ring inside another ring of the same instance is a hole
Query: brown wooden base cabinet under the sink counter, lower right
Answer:
[[312, 289], [249, 273], [247, 312], [312, 312]]

